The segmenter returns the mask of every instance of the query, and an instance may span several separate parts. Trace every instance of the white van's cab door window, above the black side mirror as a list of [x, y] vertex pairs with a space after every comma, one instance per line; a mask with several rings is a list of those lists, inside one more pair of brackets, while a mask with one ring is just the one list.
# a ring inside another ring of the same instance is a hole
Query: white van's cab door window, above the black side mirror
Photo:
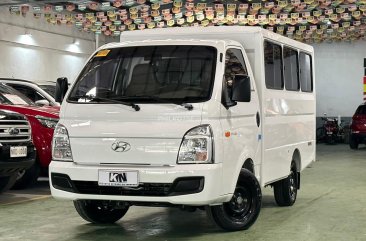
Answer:
[[235, 75], [248, 75], [240, 49], [228, 49], [225, 56], [225, 79], [234, 80]]

